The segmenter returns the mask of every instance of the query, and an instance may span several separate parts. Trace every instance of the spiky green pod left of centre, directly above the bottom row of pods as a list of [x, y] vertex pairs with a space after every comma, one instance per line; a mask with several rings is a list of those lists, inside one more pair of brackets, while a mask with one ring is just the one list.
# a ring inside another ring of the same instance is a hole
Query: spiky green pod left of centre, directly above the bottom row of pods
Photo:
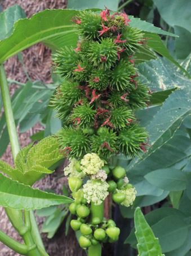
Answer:
[[93, 106], [78, 105], [73, 109], [72, 120], [79, 125], [79, 127], [92, 127], [95, 122], [96, 110], [92, 110]]

